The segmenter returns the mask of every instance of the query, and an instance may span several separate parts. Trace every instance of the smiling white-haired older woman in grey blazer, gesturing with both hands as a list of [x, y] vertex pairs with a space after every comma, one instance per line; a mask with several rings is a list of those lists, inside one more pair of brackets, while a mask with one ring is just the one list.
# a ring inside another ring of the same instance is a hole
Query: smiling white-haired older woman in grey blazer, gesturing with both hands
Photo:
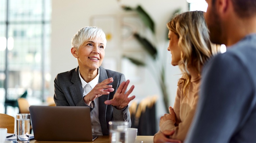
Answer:
[[122, 73], [100, 66], [106, 42], [100, 28], [81, 28], [72, 38], [71, 48], [78, 67], [57, 74], [54, 80], [56, 106], [90, 107], [93, 135], [109, 135], [111, 120], [128, 121], [131, 126], [128, 103], [135, 98], [128, 98], [134, 86], [126, 92], [130, 81]]

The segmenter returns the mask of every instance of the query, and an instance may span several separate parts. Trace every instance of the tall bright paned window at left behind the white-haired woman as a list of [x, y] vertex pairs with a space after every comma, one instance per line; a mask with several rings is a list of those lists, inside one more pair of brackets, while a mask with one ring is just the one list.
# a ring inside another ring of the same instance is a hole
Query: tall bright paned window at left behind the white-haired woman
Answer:
[[51, 11], [51, 0], [0, 0], [0, 100], [48, 95]]

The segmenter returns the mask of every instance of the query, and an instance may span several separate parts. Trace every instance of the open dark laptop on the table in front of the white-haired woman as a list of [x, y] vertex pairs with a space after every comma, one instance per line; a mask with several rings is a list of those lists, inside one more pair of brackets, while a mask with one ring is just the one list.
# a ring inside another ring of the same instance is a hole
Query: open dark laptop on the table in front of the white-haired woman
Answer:
[[84, 106], [30, 106], [35, 140], [94, 141], [90, 108]]

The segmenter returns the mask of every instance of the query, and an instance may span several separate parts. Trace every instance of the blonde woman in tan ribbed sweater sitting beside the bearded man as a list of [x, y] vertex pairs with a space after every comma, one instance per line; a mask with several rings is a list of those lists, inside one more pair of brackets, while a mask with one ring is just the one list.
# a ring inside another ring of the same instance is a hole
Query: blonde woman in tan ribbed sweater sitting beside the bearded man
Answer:
[[174, 106], [160, 118], [154, 142], [183, 142], [197, 106], [202, 67], [217, 50], [211, 45], [203, 11], [181, 13], [167, 27], [171, 64], [179, 66], [182, 76]]

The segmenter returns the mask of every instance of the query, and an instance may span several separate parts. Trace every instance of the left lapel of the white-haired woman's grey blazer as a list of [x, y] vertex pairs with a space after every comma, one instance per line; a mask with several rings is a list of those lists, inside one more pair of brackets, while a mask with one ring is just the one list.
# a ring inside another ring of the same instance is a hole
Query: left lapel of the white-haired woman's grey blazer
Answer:
[[71, 96], [75, 102], [75, 105], [81, 101], [83, 97], [83, 88], [81, 87], [81, 80], [79, 77], [79, 67], [77, 67], [72, 75], [71, 82], [74, 83], [69, 87]]

